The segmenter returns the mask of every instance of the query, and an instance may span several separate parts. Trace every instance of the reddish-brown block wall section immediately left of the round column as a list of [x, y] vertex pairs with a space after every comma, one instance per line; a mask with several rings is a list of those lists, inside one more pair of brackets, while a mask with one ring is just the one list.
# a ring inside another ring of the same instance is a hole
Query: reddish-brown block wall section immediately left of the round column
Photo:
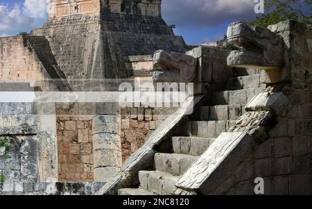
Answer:
[[[69, 110], [57, 105], [58, 181], [92, 182], [93, 138], [91, 104], [77, 103]], [[80, 111], [81, 110], [81, 111]], [[80, 112], [80, 113], [79, 113]]]

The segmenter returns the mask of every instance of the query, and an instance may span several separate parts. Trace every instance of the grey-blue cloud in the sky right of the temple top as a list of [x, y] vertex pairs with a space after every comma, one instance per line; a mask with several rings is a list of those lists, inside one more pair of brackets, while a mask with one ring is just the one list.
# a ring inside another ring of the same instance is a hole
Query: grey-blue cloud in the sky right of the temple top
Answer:
[[255, 5], [254, 0], [166, 0], [162, 12], [170, 24], [198, 28], [253, 17]]

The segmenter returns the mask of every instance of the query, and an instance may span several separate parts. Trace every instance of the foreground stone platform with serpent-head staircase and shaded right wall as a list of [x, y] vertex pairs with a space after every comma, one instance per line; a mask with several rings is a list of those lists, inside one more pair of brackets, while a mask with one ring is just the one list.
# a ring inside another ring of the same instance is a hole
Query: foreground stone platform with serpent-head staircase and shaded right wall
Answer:
[[[187, 52], [201, 62], [196, 77], [206, 78], [205, 94], [184, 101], [96, 194], [254, 194], [258, 178], [264, 194], [312, 194], [312, 26], [239, 22], [227, 37], [241, 49], [226, 56], [205, 48]], [[207, 61], [209, 53], [218, 60]], [[168, 65], [163, 60], [161, 72], [179, 78], [179, 64], [168, 53], [162, 57]], [[218, 67], [225, 62], [232, 67], [227, 73]], [[158, 69], [155, 74], [157, 81]]]

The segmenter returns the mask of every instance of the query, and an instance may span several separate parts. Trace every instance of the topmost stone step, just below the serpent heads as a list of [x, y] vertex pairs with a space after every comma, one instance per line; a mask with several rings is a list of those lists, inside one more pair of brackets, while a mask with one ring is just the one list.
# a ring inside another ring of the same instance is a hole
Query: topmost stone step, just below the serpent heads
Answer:
[[239, 76], [229, 78], [229, 81], [227, 81], [227, 84], [225, 86], [227, 90], [242, 90], [261, 87], [260, 75], [256, 74], [252, 76]]

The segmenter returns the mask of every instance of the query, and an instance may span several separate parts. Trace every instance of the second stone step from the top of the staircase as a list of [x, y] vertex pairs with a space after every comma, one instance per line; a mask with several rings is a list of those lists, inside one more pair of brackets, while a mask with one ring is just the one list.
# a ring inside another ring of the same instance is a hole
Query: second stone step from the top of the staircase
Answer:
[[235, 91], [215, 92], [211, 95], [210, 105], [242, 105], [245, 106], [254, 96], [264, 92], [264, 87]]

